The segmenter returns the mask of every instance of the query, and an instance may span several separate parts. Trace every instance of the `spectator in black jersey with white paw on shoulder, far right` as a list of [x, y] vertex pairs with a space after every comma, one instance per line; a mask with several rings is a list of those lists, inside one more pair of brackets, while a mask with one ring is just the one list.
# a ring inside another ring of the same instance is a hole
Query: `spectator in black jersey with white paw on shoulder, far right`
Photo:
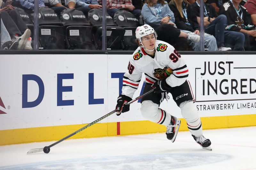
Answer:
[[256, 50], [256, 31], [252, 26], [251, 15], [245, 7], [239, 5], [242, 0], [233, 0], [224, 3], [220, 7], [220, 14], [228, 18], [226, 30], [234, 33], [243, 33], [245, 36], [245, 50]]

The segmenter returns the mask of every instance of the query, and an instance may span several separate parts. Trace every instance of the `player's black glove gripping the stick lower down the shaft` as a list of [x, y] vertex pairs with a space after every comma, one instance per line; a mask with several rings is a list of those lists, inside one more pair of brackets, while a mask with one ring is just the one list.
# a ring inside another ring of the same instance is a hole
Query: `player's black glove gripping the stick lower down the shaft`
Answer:
[[123, 94], [121, 94], [117, 98], [117, 105], [116, 105], [116, 109], [117, 109], [116, 115], [117, 116], [121, 115], [121, 113], [128, 112], [130, 110], [130, 105], [128, 105], [127, 103], [131, 100], [132, 100], [132, 98], [125, 96]]

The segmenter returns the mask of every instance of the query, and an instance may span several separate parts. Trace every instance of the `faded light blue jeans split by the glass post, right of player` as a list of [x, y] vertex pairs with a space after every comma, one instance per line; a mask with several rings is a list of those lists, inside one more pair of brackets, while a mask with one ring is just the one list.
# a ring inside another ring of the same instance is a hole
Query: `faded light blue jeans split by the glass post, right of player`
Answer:
[[[191, 33], [187, 30], [180, 30], [184, 33]], [[198, 42], [192, 42], [189, 41], [190, 45], [192, 45], [192, 48], [194, 51], [200, 51], [200, 41]], [[204, 33], [204, 45], [206, 48], [208, 48], [208, 51], [218, 51], [216, 39], [213, 35], [210, 35], [208, 33]]]

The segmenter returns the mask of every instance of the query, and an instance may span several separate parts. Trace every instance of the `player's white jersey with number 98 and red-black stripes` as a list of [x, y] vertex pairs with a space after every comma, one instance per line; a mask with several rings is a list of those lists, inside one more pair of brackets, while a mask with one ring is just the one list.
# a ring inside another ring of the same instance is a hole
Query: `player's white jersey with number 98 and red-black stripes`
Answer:
[[129, 60], [128, 71], [124, 73], [122, 94], [133, 97], [138, 89], [141, 76], [145, 82], [153, 84], [166, 78], [171, 87], [182, 85], [188, 77], [188, 67], [174, 47], [164, 41], [156, 40], [155, 56], [147, 55], [138, 47]]

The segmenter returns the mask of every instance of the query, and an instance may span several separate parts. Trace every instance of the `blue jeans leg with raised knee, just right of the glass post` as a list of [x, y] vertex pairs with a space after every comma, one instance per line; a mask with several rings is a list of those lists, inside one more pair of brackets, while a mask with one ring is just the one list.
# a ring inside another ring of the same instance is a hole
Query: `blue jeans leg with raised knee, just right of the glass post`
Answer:
[[226, 15], [219, 15], [208, 26], [204, 28], [204, 32], [215, 37], [217, 47], [224, 46], [224, 31], [227, 25]]

